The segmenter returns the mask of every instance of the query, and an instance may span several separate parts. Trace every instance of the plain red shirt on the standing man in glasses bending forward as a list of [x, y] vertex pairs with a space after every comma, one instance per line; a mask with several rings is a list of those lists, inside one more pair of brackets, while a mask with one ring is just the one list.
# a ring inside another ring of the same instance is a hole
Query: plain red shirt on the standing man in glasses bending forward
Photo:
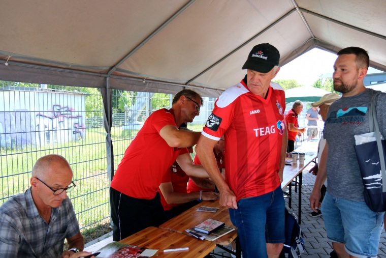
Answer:
[[177, 127], [173, 109], [159, 109], [146, 119], [115, 171], [112, 188], [135, 198], [155, 197], [168, 168], [178, 155], [188, 153], [186, 148], [170, 147], [159, 135], [166, 125]]

